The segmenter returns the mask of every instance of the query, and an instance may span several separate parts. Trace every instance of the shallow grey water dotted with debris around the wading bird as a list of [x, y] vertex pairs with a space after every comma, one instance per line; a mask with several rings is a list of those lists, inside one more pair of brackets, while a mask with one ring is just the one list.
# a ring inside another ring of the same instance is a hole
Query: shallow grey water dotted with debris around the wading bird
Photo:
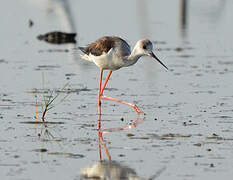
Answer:
[[[232, 179], [232, 8], [230, 0], [2, 2], [0, 179]], [[76, 32], [77, 44], [37, 40], [51, 31]], [[151, 39], [170, 71], [143, 57], [113, 72], [106, 95], [146, 116], [103, 101], [98, 133], [99, 69], [76, 48], [104, 35]], [[50, 123], [29, 123], [42, 92], [67, 83]], [[129, 125], [137, 126], [120, 131]]]

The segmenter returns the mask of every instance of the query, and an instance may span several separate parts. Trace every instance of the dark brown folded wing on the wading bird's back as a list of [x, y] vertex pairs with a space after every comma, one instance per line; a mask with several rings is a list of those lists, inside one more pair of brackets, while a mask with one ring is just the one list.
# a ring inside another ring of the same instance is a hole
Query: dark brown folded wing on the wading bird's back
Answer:
[[101, 56], [103, 52], [107, 53], [111, 48], [114, 48], [116, 44], [122, 41], [124, 40], [118, 37], [104, 36], [89, 44], [87, 47], [79, 47], [79, 49], [87, 55], [91, 53], [94, 56]]

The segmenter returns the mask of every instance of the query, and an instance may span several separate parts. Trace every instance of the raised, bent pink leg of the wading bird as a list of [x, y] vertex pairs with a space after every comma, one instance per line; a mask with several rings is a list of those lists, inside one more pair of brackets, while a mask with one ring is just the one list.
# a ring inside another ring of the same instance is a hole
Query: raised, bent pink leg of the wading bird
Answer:
[[132, 108], [136, 111], [136, 113], [138, 113], [138, 114], [145, 114], [145, 113], [144, 113], [142, 110], [140, 110], [135, 104], [131, 104], [131, 103], [128, 103], [128, 102], [126, 102], [126, 101], [122, 101], [122, 100], [119, 100], [119, 99], [116, 99], [116, 98], [107, 97], [107, 96], [104, 96], [104, 95], [103, 95], [104, 88], [106, 87], [107, 82], [108, 82], [108, 80], [109, 80], [111, 74], [112, 74], [112, 71], [110, 70], [110, 71], [109, 71], [109, 74], [108, 74], [108, 76], [107, 76], [107, 78], [106, 78], [106, 80], [105, 80], [105, 82], [104, 82], [104, 85], [103, 85], [103, 87], [102, 87], [102, 89], [101, 89], [101, 91], [100, 91], [100, 93], [99, 93], [99, 98], [100, 98], [100, 99], [107, 99], [107, 100], [119, 102], [119, 103], [122, 103], [122, 104], [126, 104], [126, 105], [132, 107]]

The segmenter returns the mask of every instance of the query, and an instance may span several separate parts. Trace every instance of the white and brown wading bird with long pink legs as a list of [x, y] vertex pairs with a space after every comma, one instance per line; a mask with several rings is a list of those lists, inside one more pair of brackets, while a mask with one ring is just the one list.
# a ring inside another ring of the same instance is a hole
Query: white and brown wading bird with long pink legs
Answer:
[[[100, 84], [99, 84], [99, 98], [98, 110], [101, 114], [101, 99], [107, 99], [132, 107], [136, 113], [145, 114], [135, 104], [128, 103], [116, 98], [107, 97], [103, 95], [104, 88], [112, 74], [112, 71], [118, 70], [122, 67], [128, 67], [135, 64], [142, 56], [151, 56], [168, 69], [153, 53], [153, 45], [150, 40], [139, 40], [133, 50], [130, 50], [129, 44], [115, 36], [105, 36], [87, 45], [86, 47], [79, 47], [84, 53], [82, 59], [95, 63], [100, 68]], [[103, 70], [109, 70], [109, 74], [102, 86]]]

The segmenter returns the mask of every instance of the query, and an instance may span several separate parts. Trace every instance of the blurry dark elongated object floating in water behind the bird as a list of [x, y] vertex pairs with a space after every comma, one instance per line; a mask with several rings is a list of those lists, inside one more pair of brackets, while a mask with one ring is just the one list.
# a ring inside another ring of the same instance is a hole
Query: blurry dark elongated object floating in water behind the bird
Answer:
[[66, 44], [66, 43], [76, 43], [75, 40], [76, 33], [65, 33], [65, 32], [49, 32], [44, 35], [37, 36], [37, 39], [44, 40], [51, 44]]

